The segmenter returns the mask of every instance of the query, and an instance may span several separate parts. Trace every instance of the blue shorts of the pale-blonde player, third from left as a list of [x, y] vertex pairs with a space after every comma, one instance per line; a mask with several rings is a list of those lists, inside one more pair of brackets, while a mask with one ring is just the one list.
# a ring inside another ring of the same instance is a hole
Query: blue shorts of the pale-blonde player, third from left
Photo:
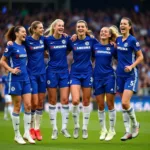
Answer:
[[69, 87], [69, 73], [54, 73], [50, 72], [46, 74], [47, 88], [63, 88]]

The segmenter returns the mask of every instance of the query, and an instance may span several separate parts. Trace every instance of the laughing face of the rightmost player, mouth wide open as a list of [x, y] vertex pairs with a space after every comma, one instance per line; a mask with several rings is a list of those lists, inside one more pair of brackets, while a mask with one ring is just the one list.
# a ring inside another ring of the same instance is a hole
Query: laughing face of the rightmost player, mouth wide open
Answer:
[[127, 19], [121, 19], [121, 22], [120, 22], [121, 34], [129, 33], [130, 29], [131, 29], [131, 25], [129, 25], [129, 21]]

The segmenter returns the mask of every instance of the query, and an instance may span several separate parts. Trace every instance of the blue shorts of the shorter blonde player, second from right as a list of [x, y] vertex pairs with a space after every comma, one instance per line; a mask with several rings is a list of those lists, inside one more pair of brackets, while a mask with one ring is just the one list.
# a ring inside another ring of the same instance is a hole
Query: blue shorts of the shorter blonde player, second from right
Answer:
[[116, 93], [116, 77], [109, 77], [101, 80], [94, 80], [93, 88], [94, 95], [100, 95], [104, 93], [115, 94]]

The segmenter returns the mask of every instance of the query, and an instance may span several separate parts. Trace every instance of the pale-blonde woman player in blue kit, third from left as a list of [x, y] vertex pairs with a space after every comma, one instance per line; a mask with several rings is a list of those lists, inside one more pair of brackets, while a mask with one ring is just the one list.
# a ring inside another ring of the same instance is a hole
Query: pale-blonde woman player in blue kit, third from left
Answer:
[[60, 102], [62, 104], [62, 129], [61, 133], [70, 138], [67, 131], [69, 117], [69, 72], [67, 64], [67, 50], [69, 49], [68, 41], [70, 37], [65, 37], [64, 21], [56, 19], [46, 30], [48, 37], [45, 40], [47, 50], [49, 52], [49, 62], [46, 70], [47, 75], [47, 91], [49, 100], [49, 116], [52, 124], [51, 139], [58, 138], [57, 128], [57, 88], [60, 89]]

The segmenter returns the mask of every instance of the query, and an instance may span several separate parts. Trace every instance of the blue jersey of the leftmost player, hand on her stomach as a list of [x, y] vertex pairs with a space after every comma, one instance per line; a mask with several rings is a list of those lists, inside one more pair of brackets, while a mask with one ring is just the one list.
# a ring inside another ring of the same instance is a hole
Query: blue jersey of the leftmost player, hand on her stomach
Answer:
[[8, 64], [11, 68], [19, 67], [19, 74], [9, 73], [9, 81], [27, 81], [29, 80], [26, 63], [27, 54], [24, 45], [18, 45], [13, 42], [13, 45], [7, 46], [3, 54], [8, 58]]

